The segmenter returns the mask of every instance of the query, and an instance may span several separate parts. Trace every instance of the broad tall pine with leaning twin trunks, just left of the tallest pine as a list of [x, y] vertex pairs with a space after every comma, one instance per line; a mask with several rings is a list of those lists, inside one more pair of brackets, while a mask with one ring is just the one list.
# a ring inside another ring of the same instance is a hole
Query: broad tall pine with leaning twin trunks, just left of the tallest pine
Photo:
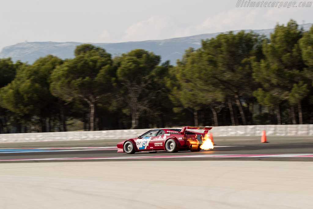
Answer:
[[[242, 101], [252, 97], [255, 84], [252, 79], [251, 60], [261, 59], [264, 37], [253, 32], [240, 31], [219, 34], [216, 38], [202, 42], [205, 54], [206, 73], [216, 89], [222, 90], [224, 97], [235, 100], [243, 125], [247, 116]], [[232, 109], [231, 102], [228, 102]], [[230, 112], [234, 125], [233, 111]]]

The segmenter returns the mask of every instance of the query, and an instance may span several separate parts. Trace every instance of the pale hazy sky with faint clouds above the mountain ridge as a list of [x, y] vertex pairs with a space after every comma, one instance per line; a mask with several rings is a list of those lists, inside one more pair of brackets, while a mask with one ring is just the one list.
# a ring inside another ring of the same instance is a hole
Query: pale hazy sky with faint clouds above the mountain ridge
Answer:
[[[253, 0], [255, 1], [255, 0]], [[0, 49], [28, 41], [124, 42], [239, 29], [269, 29], [310, 8], [236, 7], [237, 0], [0, 1]], [[296, 1], [298, 5], [299, 2]]]

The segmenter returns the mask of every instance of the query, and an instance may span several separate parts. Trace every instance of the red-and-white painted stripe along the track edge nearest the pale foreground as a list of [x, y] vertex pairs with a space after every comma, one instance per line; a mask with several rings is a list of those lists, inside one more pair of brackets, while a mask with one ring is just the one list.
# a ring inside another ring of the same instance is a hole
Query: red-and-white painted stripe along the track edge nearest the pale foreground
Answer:
[[191, 155], [155, 155], [127, 157], [71, 157], [71, 158], [32, 158], [32, 159], [0, 159], [0, 161], [31, 160], [94, 160], [94, 159], [158, 159], [158, 158], [267, 158], [267, 157], [305, 157], [313, 158], [313, 154], [191, 154]]

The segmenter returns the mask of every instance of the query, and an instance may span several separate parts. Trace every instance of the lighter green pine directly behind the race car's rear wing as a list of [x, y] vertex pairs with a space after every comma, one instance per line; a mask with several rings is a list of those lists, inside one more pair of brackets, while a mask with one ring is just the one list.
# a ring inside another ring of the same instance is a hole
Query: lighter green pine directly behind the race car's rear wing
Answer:
[[177, 66], [171, 69], [167, 86], [172, 89], [172, 102], [192, 112], [195, 126], [198, 126], [198, 111], [204, 107], [211, 109], [214, 123], [218, 126], [217, 107], [221, 106], [225, 98], [219, 89], [214, 88], [205, 63], [205, 53], [202, 50], [189, 48], [182, 60], [177, 61]]

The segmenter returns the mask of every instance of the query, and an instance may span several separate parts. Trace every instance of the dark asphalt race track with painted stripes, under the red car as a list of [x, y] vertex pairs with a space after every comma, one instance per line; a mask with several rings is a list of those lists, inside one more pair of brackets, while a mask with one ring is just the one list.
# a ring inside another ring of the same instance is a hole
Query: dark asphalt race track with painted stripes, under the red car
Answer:
[[265, 160], [313, 161], [313, 137], [272, 136], [215, 137], [213, 150], [178, 153], [117, 153], [120, 140], [84, 140], [0, 144], [0, 163], [57, 161], [181, 161], [181, 160]]

